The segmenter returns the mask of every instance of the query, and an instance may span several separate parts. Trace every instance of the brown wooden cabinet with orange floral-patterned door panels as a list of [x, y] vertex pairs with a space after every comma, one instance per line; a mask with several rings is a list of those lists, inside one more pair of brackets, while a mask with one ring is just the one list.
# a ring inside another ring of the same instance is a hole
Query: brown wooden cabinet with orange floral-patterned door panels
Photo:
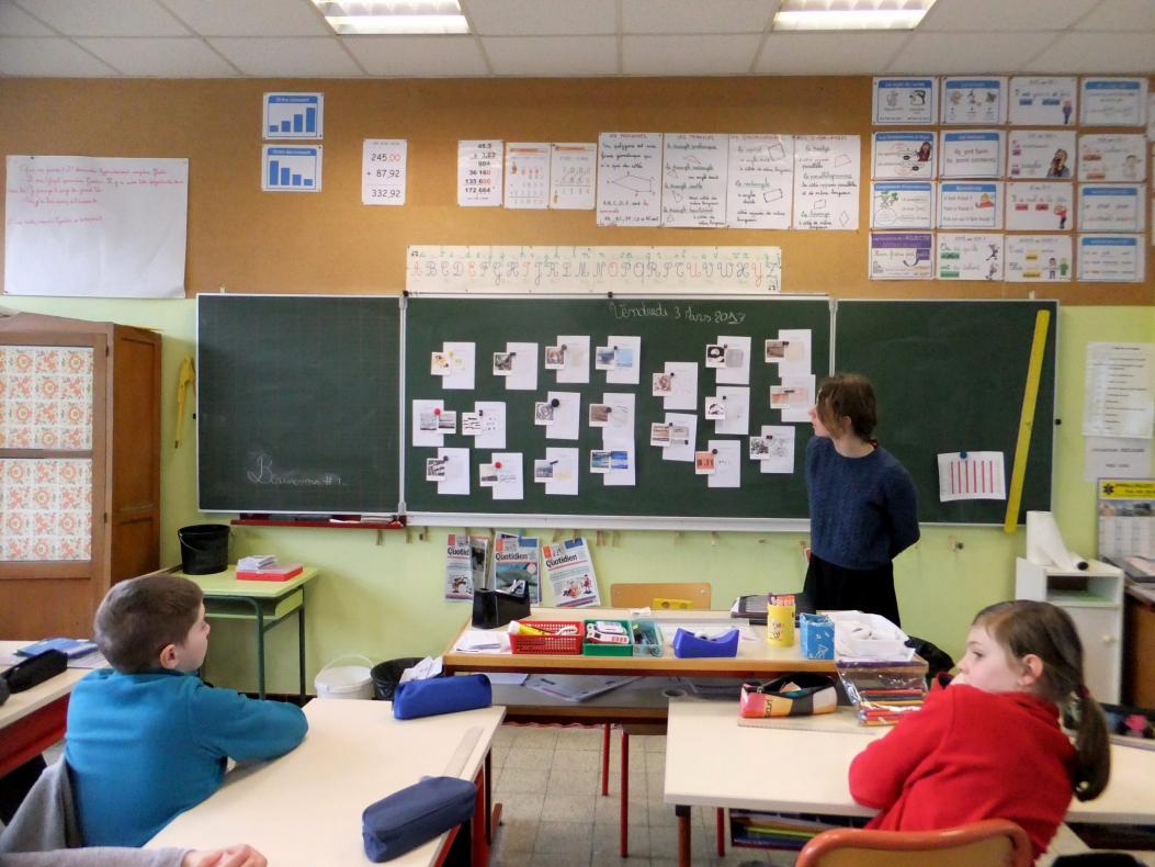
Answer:
[[90, 636], [159, 565], [161, 338], [0, 317], [0, 637]]

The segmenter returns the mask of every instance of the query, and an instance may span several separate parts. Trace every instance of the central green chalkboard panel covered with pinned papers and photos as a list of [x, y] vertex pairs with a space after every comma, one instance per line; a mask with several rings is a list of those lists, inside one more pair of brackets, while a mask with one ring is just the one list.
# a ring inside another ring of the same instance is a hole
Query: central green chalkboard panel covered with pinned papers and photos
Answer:
[[[781, 383], [777, 364], [765, 360], [765, 340], [778, 336], [780, 329], [808, 329], [812, 336], [812, 371], [821, 378], [828, 372], [830, 309], [826, 298], [558, 298], [558, 297], [416, 297], [407, 299], [405, 319], [405, 510], [417, 523], [437, 517], [526, 516], [565, 519], [602, 519], [620, 526], [647, 526], [647, 519], [684, 519], [685, 526], [730, 526], [766, 519], [805, 519], [807, 502], [802, 473], [808, 423], [795, 423], [795, 472], [763, 474], [748, 457], [748, 438], [715, 433], [715, 422], [702, 417], [705, 399], [715, 394], [715, 370], [705, 366], [706, 346], [720, 336], [748, 336], [750, 431], [763, 424], [781, 424], [781, 414], [769, 406], [770, 386]], [[545, 347], [556, 346], [559, 335], [589, 335], [590, 355], [608, 346], [610, 335], [641, 338], [639, 383], [606, 383], [606, 372], [589, 361], [589, 381], [557, 381], [553, 370], [543, 365]], [[475, 387], [449, 390], [431, 371], [431, 356], [446, 342], [472, 342], [476, 346]], [[537, 386], [532, 391], [507, 390], [506, 380], [494, 376], [493, 353], [507, 342], [538, 344]], [[650, 445], [650, 425], [665, 418], [661, 398], [653, 397], [653, 375], [665, 362], [698, 363], [698, 398], [694, 409], [678, 410], [698, 415], [696, 447], [707, 449], [709, 439], [733, 439], [740, 444], [740, 488], [709, 488], [705, 475], [695, 474], [694, 464], [663, 460], [662, 449]], [[535, 402], [545, 401], [550, 391], [576, 392], [581, 397], [579, 438], [546, 438], [546, 429], [535, 424]], [[634, 394], [633, 433], [636, 483], [632, 487], [606, 486], [590, 472], [589, 453], [603, 447], [601, 428], [588, 423], [588, 407], [603, 402], [605, 393]], [[426, 481], [426, 460], [437, 457], [432, 446], [413, 446], [415, 400], [444, 400], [446, 410], [459, 414], [456, 432], [446, 435], [447, 447], [469, 447], [469, 494], [439, 495], [435, 482]], [[491, 452], [472, 449], [471, 437], [462, 436], [460, 416], [471, 412], [475, 401], [506, 403], [506, 446], [502, 451], [523, 455], [524, 498], [497, 501], [490, 488], [479, 486], [478, 467]], [[534, 481], [534, 460], [544, 459], [546, 447], [580, 450], [579, 492], [562, 496], [545, 492]], [[588, 524], [588, 520], [586, 521]]]

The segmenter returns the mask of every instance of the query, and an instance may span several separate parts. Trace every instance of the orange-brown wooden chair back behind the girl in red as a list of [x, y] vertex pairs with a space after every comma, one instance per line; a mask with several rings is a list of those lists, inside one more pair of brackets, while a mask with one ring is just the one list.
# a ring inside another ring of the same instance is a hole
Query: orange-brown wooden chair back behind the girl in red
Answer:
[[1014, 822], [985, 818], [941, 831], [822, 831], [796, 867], [1030, 867], [1030, 839]]

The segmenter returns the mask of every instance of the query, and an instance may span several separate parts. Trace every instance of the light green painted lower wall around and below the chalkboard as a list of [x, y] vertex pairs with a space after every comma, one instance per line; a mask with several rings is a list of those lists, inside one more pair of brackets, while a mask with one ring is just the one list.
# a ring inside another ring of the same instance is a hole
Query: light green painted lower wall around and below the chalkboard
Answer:
[[[1088, 289], [1093, 291], [1093, 289]], [[179, 561], [177, 528], [233, 516], [196, 511], [194, 427], [185, 420], [185, 442], [173, 447], [177, 366], [194, 354], [193, 301], [84, 301], [16, 298], [9, 309], [82, 319], [118, 321], [159, 331], [164, 338], [162, 403], [163, 563]], [[1053, 507], [1064, 536], [1083, 555], [1095, 551], [1095, 490], [1083, 482], [1083, 357], [1091, 341], [1155, 341], [1155, 309], [1065, 307], [1059, 313], [1058, 417], [1055, 451]], [[1008, 376], [1021, 376], [1008, 371]], [[951, 383], [942, 383], [942, 395]], [[887, 406], [901, 417], [914, 407]], [[970, 407], [968, 412], [983, 412]], [[1008, 455], [1009, 458], [1009, 455]], [[480, 529], [480, 528], [478, 528]], [[515, 527], [514, 529], [522, 529]], [[532, 527], [526, 527], [532, 531]], [[580, 529], [575, 527], [574, 529]], [[541, 531], [552, 539], [554, 531]], [[446, 529], [424, 535], [382, 534], [359, 529], [237, 527], [233, 556], [273, 553], [321, 569], [308, 595], [308, 679], [343, 653], [373, 661], [423, 655], [441, 650], [468, 616], [468, 606], [442, 596], [441, 570]], [[568, 532], [566, 533], [568, 535]], [[671, 533], [628, 531], [588, 534], [603, 598], [609, 585], [629, 580], [708, 580], [714, 605], [728, 605], [739, 593], [799, 590], [804, 575], [802, 542], [796, 533]], [[1022, 554], [1021, 529], [1006, 534], [994, 527], [924, 527], [923, 539], [896, 562], [903, 625], [959, 655], [971, 615], [982, 606], [1009, 596], [1014, 558]], [[549, 596], [549, 588], [545, 590]], [[549, 599], [546, 599], [549, 601]], [[296, 630], [283, 625], [269, 633], [271, 691], [296, 689]], [[214, 627], [207, 676], [218, 686], [252, 689], [255, 684], [252, 635], [243, 624]]]

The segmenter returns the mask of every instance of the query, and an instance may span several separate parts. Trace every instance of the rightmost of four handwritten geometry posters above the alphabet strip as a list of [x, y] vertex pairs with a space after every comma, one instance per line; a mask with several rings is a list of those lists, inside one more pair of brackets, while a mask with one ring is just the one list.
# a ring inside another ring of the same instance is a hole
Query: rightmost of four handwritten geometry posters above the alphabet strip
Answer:
[[858, 229], [857, 135], [795, 136], [795, 229]]

